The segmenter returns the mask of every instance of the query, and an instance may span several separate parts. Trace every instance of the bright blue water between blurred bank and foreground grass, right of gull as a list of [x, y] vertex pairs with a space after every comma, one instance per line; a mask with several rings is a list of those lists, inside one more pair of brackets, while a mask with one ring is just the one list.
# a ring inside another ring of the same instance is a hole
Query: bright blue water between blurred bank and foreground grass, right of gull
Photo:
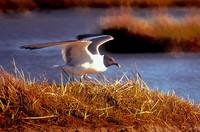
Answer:
[[[200, 102], [200, 54], [135, 54], [118, 55], [123, 71], [137, 70], [154, 89], [175, 91], [184, 98]], [[116, 70], [116, 69], [115, 69]]]

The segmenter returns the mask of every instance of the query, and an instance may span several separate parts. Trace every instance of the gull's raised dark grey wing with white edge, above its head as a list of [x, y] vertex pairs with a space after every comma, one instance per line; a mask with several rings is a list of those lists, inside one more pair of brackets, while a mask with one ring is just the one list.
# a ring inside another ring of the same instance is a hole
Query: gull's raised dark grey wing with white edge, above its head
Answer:
[[[89, 35], [90, 36], [90, 35]], [[79, 37], [79, 36], [78, 36]], [[88, 46], [88, 50], [92, 54], [100, 54], [99, 47], [106, 43], [107, 41], [113, 40], [114, 38], [110, 35], [98, 35], [92, 37], [82, 37], [80, 40], [92, 41], [92, 43]]]

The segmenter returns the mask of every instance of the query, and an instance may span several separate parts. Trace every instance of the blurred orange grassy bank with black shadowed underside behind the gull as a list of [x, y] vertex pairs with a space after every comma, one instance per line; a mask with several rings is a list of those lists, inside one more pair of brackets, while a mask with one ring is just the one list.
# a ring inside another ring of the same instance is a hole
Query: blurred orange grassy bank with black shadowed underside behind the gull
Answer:
[[177, 19], [160, 14], [145, 19], [122, 13], [102, 18], [101, 24], [102, 32], [115, 38], [107, 45], [113, 52], [199, 52], [199, 21], [199, 15]]

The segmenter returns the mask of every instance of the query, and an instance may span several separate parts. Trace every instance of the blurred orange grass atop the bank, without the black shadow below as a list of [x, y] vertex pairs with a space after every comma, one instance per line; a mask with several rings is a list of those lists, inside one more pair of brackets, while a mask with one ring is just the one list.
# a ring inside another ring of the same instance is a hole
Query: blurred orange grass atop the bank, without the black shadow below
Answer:
[[199, 51], [199, 21], [198, 14], [188, 15], [181, 19], [167, 14], [158, 14], [150, 19], [145, 19], [129, 13], [121, 13], [102, 18], [101, 25], [103, 31], [114, 31], [111, 34], [118, 34], [118, 31], [125, 29], [127, 34], [133, 37], [150, 38], [150, 40], [156, 41], [155, 43], [160, 41], [161, 44], [166, 42], [163, 45], [170, 45], [172, 49], [169, 50], [180, 48], [186, 51]]

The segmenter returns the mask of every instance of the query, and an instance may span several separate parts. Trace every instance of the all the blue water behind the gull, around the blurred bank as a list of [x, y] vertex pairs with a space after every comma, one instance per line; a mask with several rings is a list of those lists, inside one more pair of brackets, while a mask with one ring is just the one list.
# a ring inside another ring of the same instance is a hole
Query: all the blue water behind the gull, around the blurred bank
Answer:
[[[116, 9], [115, 9], [116, 10]], [[45, 75], [58, 79], [60, 74], [51, 66], [62, 64], [59, 48], [22, 50], [25, 44], [74, 39], [78, 34], [98, 33], [102, 16], [113, 10], [67, 9], [32, 12], [25, 14], [0, 15], [0, 65], [13, 72], [12, 61], [32, 77]], [[153, 11], [152, 11], [153, 12]], [[150, 17], [149, 10], [135, 9], [133, 13]], [[199, 12], [199, 10], [197, 11]], [[173, 9], [175, 17], [183, 17], [186, 9]], [[200, 54], [113, 54], [122, 65], [121, 69], [110, 67], [105, 75], [120, 77], [126, 73], [132, 76], [137, 70], [153, 89], [167, 92], [174, 90], [177, 95], [200, 102]]]

